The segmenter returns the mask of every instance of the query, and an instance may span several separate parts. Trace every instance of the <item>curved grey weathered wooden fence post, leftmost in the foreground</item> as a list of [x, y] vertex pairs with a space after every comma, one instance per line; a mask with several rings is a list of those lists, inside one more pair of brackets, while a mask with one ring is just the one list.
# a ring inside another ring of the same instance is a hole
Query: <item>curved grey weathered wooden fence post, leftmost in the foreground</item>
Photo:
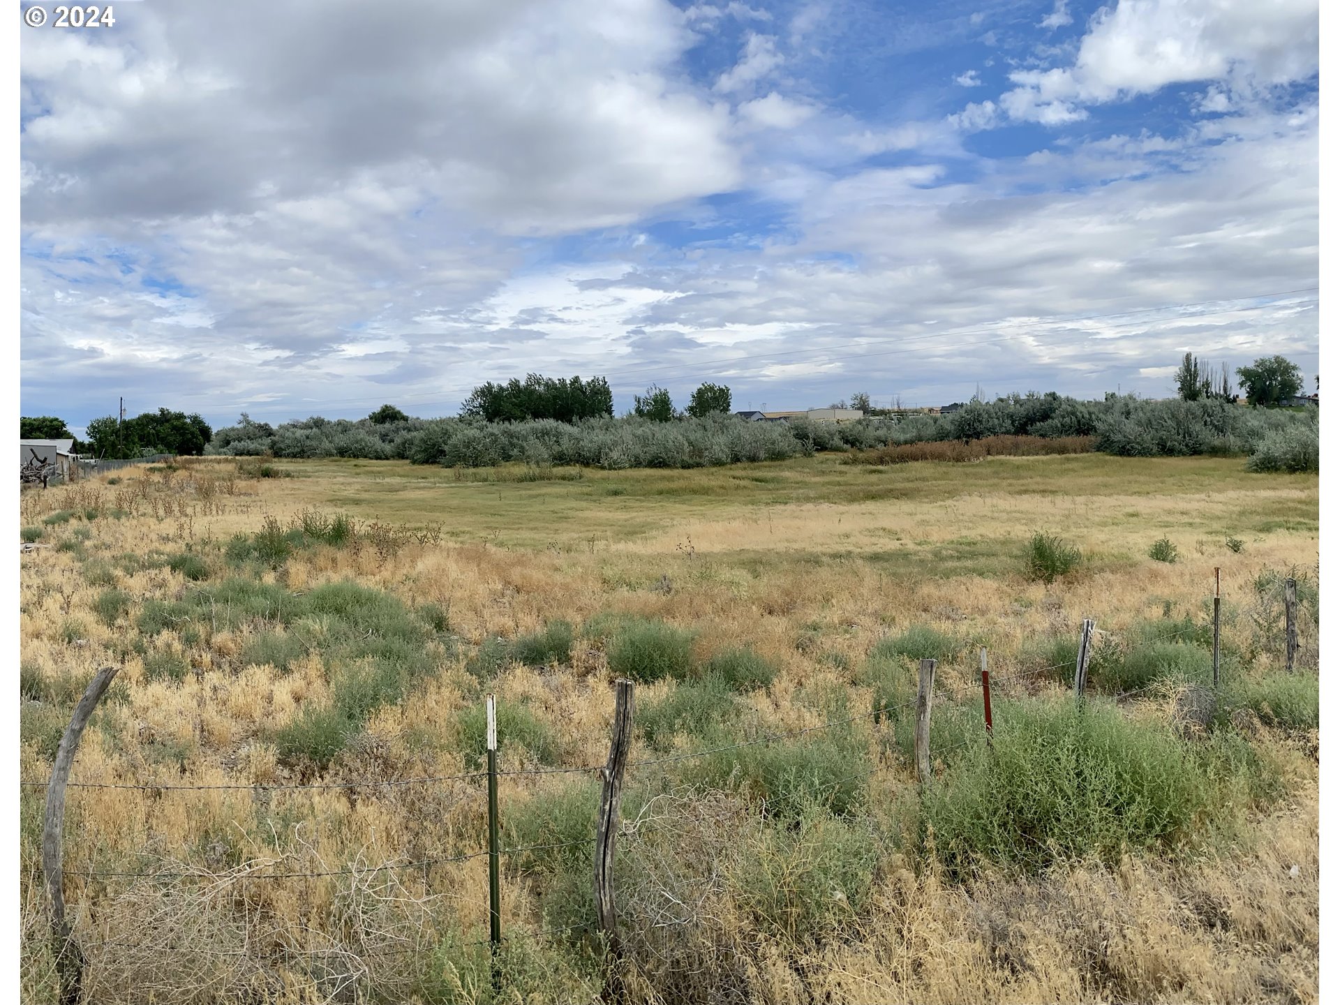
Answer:
[[47, 882], [47, 898], [51, 900], [51, 938], [56, 957], [56, 973], [60, 976], [60, 1005], [78, 1005], [79, 984], [83, 977], [83, 953], [74, 941], [70, 922], [66, 921], [64, 867], [60, 860], [60, 840], [66, 824], [66, 783], [70, 768], [79, 749], [79, 738], [107, 691], [111, 678], [121, 667], [105, 666], [99, 670], [83, 697], [75, 705], [60, 746], [56, 748], [56, 762], [51, 766], [51, 781], [47, 784], [47, 807], [42, 819], [42, 872]]

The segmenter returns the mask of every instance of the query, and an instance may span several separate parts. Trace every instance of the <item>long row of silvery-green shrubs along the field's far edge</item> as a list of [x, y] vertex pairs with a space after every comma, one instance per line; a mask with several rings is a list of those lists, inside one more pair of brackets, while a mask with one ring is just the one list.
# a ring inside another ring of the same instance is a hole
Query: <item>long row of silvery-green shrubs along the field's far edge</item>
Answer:
[[819, 450], [874, 450], [923, 442], [993, 437], [1068, 440], [1079, 449], [1130, 457], [1252, 454], [1253, 470], [1316, 470], [1316, 413], [1246, 409], [1221, 401], [1143, 401], [1108, 395], [1079, 401], [1059, 394], [1013, 394], [970, 402], [949, 415], [867, 417], [856, 422], [748, 422], [733, 415], [653, 422], [638, 417], [484, 422], [481, 419], [370, 419], [287, 422], [248, 418], [220, 429], [206, 453], [273, 457], [366, 457], [481, 468], [535, 466], [702, 468], [775, 461]]

